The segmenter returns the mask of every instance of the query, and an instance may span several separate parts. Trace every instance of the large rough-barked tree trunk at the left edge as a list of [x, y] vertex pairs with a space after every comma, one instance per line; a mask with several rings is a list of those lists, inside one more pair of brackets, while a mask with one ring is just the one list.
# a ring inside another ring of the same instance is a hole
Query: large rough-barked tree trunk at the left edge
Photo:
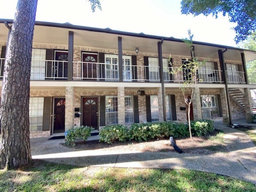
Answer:
[[7, 48], [0, 109], [0, 168], [31, 162], [30, 66], [37, 0], [18, 0]]

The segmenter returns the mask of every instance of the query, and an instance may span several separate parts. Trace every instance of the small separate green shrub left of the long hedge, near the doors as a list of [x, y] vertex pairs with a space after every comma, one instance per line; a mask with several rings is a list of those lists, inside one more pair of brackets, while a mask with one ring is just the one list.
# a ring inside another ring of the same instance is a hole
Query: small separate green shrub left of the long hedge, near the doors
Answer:
[[82, 139], [82, 141], [86, 141], [88, 137], [90, 137], [92, 130], [92, 127], [84, 125], [69, 129], [65, 136], [65, 144], [72, 144], [74, 146], [77, 138]]

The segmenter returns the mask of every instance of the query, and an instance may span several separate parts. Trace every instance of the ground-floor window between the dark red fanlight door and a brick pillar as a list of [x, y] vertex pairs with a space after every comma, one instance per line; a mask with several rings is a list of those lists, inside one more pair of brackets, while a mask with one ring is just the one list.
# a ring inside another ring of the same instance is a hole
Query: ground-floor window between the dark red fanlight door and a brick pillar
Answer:
[[106, 96], [106, 125], [118, 124], [118, 102], [115, 96]]

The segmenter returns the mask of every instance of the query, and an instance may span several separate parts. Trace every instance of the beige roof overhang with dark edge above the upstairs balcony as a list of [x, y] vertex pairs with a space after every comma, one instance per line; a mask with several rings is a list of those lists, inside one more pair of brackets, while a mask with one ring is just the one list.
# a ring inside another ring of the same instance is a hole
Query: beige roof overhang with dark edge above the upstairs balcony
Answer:
[[[6, 42], [8, 37], [8, 28], [4, 22], [11, 25], [13, 20], [0, 19], [0, 42]], [[164, 40], [163, 54], [191, 56], [187, 44], [181, 39], [50, 22], [35, 23], [33, 42], [68, 46], [69, 31], [74, 32], [74, 46], [118, 50], [118, 37], [122, 37], [123, 51], [135, 52], [138, 46], [142, 53], [158, 53], [157, 42]], [[227, 60], [241, 61], [241, 53], [244, 53], [246, 61], [256, 59], [256, 51], [203, 42], [193, 42], [193, 45], [197, 57], [218, 59], [218, 50], [224, 51], [227, 48], [224, 53]]]

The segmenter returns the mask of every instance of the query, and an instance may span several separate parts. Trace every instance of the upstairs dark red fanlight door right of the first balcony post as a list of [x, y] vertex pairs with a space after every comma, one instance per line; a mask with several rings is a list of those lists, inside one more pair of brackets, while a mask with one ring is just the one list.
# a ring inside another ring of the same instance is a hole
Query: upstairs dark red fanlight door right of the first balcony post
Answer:
[[97, 80], [98, 55], [93, 53], [82, 53], [82, 77], [90, 80]]

